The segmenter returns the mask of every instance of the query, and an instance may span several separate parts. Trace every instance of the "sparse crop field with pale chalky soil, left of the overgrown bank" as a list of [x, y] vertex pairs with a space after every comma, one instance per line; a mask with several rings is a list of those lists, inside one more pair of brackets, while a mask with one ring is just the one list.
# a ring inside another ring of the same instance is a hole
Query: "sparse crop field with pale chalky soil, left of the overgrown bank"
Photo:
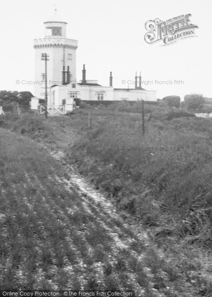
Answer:
[[70, 188], [68, 172], [46, 151], [16, 150], [36, 148], [30, 139], [0, 129], [0, 140], [1, 290], [152, 291], [149, 276], [141, 282], [129, 265], [134, 235], [112, 204]]

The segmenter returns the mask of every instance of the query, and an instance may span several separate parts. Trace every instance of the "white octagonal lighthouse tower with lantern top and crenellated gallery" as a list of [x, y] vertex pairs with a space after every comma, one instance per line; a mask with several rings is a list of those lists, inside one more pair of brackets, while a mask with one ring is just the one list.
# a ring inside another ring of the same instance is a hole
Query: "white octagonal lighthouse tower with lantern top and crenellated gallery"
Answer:
[[45, 98], [45, 61], [42, 60], [42, 53], [48, 55], [46, 71], [48, 95], [53, 85], [68, 85], [76, 81], [78, 42], [66, 37], [66, 25], [55, 9], [54, 15], [44, 22], [45, 37], [34, 40], [35, 97]]

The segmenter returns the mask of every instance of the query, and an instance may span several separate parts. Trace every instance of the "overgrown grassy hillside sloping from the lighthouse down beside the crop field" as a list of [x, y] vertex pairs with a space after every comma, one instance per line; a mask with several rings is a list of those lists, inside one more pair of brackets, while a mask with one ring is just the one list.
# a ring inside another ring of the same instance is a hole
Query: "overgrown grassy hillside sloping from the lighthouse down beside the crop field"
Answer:
[[[74, 164], [75, 170], [104, 190], [125, 222], [145, 224], [154, 248], [158, 246], [176, 269], [169, 272], [170, 278], [175, 282], [181, 274], [189, 283], [189, 288], [175, 283], [184, 292], [180, 296], [192, 296], [189, 291], [209, 297], [212, 123], [193, 117], [170, 119], [170, 110], [150, 111], [153, 116], [145, 116], [145, 137], [141, 114], [112, 108], [93, 109], [90, 128], [86, 108], [48, 120], [31, 114], [5, 116], [1, 126], [41, 145], [71, 146], [64, 151], [64, 163]], [[152, 265], [158, 263], [155, 258]]]

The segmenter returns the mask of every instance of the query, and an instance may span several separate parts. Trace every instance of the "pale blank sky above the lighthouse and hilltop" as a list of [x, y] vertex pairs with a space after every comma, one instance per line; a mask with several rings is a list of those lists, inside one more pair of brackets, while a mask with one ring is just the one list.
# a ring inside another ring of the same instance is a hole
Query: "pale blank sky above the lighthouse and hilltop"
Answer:
[[[33, 94], [32, 85], [16, 81], [34, 81], [33, 39], [44, 37], [43, 22], [54, 5], [68, 23], [67, 37], [78, 40], [77, 80], [85, 64], [86, 78], [103, 86], [112, 71], [115, 88], [134, 88], [137, 71], [142, 87], [156, 90], [157, 98], [182, 100], [194, 93], [212, 98], [211, 0], [0, 0], [0, 90]], [[188, 13], [198, 26], [196, 37], [168, 46], [145, 42], [147, 21]]]

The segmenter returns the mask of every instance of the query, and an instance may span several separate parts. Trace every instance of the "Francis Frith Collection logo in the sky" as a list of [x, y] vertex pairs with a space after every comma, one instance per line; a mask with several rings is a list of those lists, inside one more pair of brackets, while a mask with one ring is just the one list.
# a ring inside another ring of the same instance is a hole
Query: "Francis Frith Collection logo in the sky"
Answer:
[[145, 36], [145, 42], [152, 44], [157, 41], [163, 41], [162, 46], [173, 44], [181, 39], [195, 37], [194, 29], [198, 28], [190, 22], [191, 14], [183, 14], [173, 17], [167, 21], [161, 21], [159, 18], [145, 23], [145, 29], [148, 31]]

